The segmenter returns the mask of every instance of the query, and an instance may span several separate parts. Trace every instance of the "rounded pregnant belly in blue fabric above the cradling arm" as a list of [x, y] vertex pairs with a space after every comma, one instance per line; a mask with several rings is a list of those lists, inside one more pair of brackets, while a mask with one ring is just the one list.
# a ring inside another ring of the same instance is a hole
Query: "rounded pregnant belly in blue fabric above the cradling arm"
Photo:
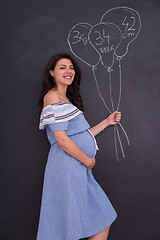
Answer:
[[88, 156], [95, 157], [98, 146], [92, 133], [87, 129], [84, 132], [69, 136], [76, 145]]

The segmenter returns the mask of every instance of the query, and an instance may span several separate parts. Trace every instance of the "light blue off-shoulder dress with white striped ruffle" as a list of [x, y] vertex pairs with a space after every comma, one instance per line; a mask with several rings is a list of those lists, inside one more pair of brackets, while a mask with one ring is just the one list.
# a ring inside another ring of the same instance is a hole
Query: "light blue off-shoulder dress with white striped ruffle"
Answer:
[[39, 129], [51, 144], [44, 174], [37, 240], [78, 240], [107, 228], [117, 217], [92, 169], [62, 150], [54, 131], [67, 135], [88, 156], [95, 157], [96, 139], [84, 114], [70, 102], [43, 108]]

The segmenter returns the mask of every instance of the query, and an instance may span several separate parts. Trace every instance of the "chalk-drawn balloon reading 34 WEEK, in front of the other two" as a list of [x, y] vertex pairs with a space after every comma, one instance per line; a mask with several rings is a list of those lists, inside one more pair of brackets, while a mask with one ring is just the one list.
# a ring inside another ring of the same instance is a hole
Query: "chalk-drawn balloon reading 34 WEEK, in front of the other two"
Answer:
[[99, 53], [102, 65], [110, 70], [114, 64], [115, 50], [122, 38], [119, 27], [112, 23], [98, 23], [91, 28], [88, 38]]

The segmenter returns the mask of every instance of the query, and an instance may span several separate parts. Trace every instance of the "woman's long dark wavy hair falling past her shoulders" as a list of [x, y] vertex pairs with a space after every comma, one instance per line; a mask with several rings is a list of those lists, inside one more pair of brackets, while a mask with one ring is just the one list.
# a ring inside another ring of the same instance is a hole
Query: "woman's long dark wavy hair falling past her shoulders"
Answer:
[[75, 77], [71, 85], [67, 87], [66, 96], [73, 105], [79, 108], [81, 111], [84, 111], [84, 106], [82, 103], [82, 98], [80, 96], [80, 81], [81, 81], [81, 69], [78, 66], [77, 62], [74, 60], [72, 55], [69, 53], [57, 53], [53, 57], [50, 58], [47, 66], [44, 69], [43, 81], [42, 81], [42, 92], [38, 99], [39, 110], [38, 114], [40, 116], [41, 111], [43, 109], [43, 98], [45, 94], [51, 89], [56, 88], [56, 81], [54, 77], [49, 73], [50, 70], [54, 70], [57, 62], [62, 59], [67, 58], [70, 59], [75, 70]]

